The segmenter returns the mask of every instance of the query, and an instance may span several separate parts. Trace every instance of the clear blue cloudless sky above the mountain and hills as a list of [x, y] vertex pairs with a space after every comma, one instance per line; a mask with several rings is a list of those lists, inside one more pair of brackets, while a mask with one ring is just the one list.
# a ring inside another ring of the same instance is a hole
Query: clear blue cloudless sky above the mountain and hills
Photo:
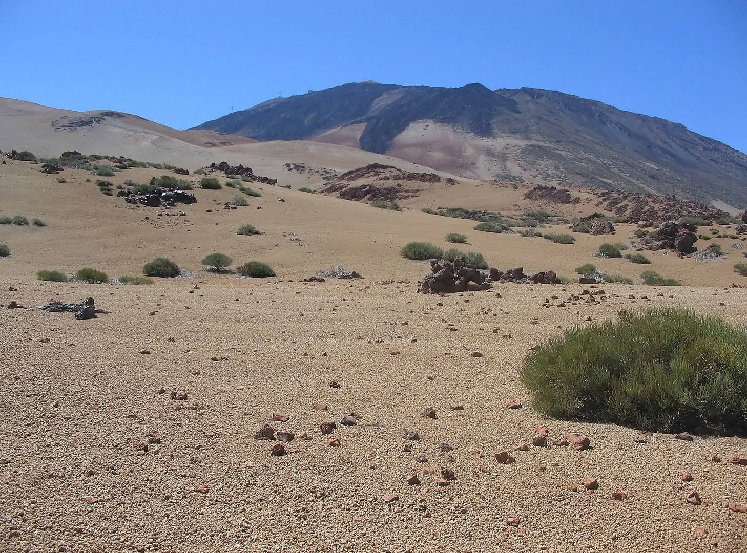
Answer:
[[536, 87], [747, 151], [747, 0], [0, 0], [0, 96], [175, 128], [354, 81]]

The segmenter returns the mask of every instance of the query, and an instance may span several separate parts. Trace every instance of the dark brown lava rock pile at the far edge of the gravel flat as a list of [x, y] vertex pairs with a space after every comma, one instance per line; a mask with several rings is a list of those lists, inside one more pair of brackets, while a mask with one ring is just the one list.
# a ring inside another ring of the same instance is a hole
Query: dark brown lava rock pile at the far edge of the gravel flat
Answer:
[[542, 271], [528, 276], [524, 275], [523, 267], [509, 269], [506, 272], [491, 267], [486, 273], [467, 263], [464, 257], [457, 257], [453, 263], [433, 259], [430, 261], [430, 268], [431, 274], [421, 281], [418, 292], [424, 294], [477, 292], [489, 290], [492, 282], [560, 284], [560, 279], [553, 271]]

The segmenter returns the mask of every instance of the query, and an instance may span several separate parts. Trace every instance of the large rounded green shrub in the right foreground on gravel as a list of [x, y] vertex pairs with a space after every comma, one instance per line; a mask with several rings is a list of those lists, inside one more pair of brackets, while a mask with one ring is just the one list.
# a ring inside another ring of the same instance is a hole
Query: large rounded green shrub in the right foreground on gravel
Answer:
[[548, 416], [647, 431], [747, 432], [747, 332], [686, 310], [566, 330], [524, 359]]

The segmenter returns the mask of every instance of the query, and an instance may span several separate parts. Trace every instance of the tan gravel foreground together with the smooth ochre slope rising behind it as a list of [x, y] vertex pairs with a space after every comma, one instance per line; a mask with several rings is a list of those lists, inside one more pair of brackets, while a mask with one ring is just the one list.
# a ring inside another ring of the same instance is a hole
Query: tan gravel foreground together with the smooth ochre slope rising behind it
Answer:
[[[146, 182], [161, 173], [131, 169], [109, 180]], [[236, 194], [229, 188], [194, 190], [197, 204], [173, 210], [132, 207], [99, 193], [95, 179], [73, 170], [43, 175], [13, 160], [0, 165], [0, 215], [46, 222], [0, 225], [0, 243], [12, 252], [0, 258], [1, 551], [747, 546], [747, 514], [728, 507], [747, 505], [747, 466], [728, 462], [747, 457], [747, 440], [685, 442], [547, 419], [532, 410], [518, 376], [531, 346], [621, 309], [692, 307], [743, 322], [747, 289], [727, 288], [747, 284], [731, 269], [741, 257], [734, 240], [711, 241], [722, 242], [726, 260], [648, 252], [653, 263], [643, 267], [592, 257], [610, 237], [577, 234], [577, 243], [562, 245], [480, 233], [474, 222], [419, 209], [382, 210], [258, 183], [251, 186], [262, 196], [235, 210], [223, 208]], [[264, 234], [238, 236], [247, 222]], [[619, 225], [614, 240], [634, 228]], [[419, 295], [428, 265], [398, 252], [411, 240], [447, 248], [448, 232], [466, 234], [469, 244], [460, 247], [503, 270], [570, 277], [592, 262], [636, 282], [642, 269], [654, 269], [684, 286], [605, 284], [604, 300], [549, 309], [546, 298], [557, 296], [557, 305], [588, 287], [500, 284]], [[204, 272], [199, 261], [211, 251], [235, 263], [270, 263], [277, 276]], [[70, 274], [82, 266], [134, 275], [158, 255], [194, 278], [150, 286], [34, 278], [39, 269]], [[364, 278], [301, 281], [338, 264]], [[78, 321], [37, 309], [87, 296], [109, 313]], [[11, 301], [25, 308], [5, 309]], [[172, 399], [179, 390], [187, 399]], [[422, 416], [427, 407], [436, 419]], [[322, 423], [351, 413], [355, 425], [322, 434]], [[270, 455], [277, 441], [255, 440], [265, 424], [294, 435], [287, 454]], [[535, 428], [547, 428], [550, 443], [579, 432], [593, 447], [533, 446]], [[404, 440], [405, 430], [419, 440]], [[496, 453], [521, 443], [529, 446], [511, 453], [515, 463], [498, 463]], [[685, 473], [692, 481], [683, 481]], [[408, 484], [412, 475], [420, 484]], [[588, 478], [598, 489], [585, 489]], [[686, 502], [692, 491], [701, 504]]]

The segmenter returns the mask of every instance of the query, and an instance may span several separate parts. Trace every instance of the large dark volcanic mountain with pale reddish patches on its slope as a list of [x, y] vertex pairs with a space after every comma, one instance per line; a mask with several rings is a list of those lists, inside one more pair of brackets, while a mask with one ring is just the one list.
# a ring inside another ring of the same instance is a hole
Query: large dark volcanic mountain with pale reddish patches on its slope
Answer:
[[465, 178], [747, 206], [747, 155], [666, 119], [551, 90], [363, 83], [266, 101], [192, 130], [309, 140]]

